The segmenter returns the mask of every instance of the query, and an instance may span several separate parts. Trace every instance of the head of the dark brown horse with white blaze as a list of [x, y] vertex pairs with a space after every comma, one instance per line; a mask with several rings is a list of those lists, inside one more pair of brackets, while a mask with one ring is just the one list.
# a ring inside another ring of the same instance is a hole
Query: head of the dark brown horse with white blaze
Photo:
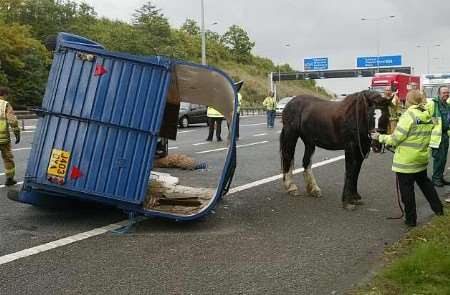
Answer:
[[[367, 103], [368, 115], [368, 132], [387, 133], [389, 126], [389, 104], [390, 99], [386, 99], [380, 93], [375, 91], [364, 90], [361, 95]], [[380, 153], [383, 149], [382, 144], [378, 140], [371, 139], [370, 143], [374, 153]]]

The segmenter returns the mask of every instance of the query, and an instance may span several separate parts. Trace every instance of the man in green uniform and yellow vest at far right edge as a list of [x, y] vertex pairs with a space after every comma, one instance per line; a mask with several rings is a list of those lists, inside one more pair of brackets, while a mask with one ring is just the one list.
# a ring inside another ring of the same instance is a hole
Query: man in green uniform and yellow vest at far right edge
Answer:
[[448, 130], [450, 127], [450, 106], [448, 105], [449, 89], [446, 86], [439, 87], [439, 96], [428, 103], [429, 112], [433, 117], [435, 128], [433, 129], [430, 146], [433, 156], [433, 183], [442, 187], [450, 182], [444, 179], [445, 164], [449, 146]]

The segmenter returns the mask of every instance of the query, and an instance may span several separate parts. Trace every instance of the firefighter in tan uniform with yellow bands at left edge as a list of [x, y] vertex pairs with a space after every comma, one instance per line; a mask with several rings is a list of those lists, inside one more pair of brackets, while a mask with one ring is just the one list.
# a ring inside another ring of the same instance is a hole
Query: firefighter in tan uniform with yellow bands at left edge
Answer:
[[20, 128], [14, 110], [5, 100], [8, 95], [8, 89], [0, 87], [0, 152], [2, 154], [3, 163], [5, 165], [6, 186], [15, 185], [17, 181], [14, 179], [16, 174], [16, 165], [11, 150], [11, 138], [9, 135], [9, 127], [13, 129], [16, 137], [16, 144], [20, 142]]

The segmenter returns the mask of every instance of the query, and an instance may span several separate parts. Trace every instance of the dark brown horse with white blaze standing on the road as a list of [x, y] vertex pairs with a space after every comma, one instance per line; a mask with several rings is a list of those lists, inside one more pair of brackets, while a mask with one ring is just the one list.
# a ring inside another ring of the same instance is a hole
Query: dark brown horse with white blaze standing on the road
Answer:
[[343, 207], [352, 210], [355, 205], [362, 204], [357, 189], [359, 172], [371, 147], [374, 152], [381, 151], [380, 144], [371, 140], [370, 133], [387, 130], [388, 104], [389, 100], [368, 90], [351, 94], [341, 102], [326, 101], [310, 95], [292, 99], [283, 111], [283, 129], [280, 134], [281, 166], [286, 190], [292, 195], [300, 195], [292, 179], [295, 146], [300, 137], [305, 144], [303, 176], [307, 193], [321, 196], [311, 170], [311, 157], [316, 146], [327, 150], [345, 150]]

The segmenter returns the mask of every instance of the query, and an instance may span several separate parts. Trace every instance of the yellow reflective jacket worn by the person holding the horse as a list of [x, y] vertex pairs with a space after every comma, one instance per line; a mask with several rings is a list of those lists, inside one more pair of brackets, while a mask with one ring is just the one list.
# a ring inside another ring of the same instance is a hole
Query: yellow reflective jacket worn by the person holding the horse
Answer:
[[380, 135], [381, 143], [395, 147], [392, 171], [417, 173], [427, 169], [433, 126], [425, 105], [413, 105], [400, 117], [394, 133]]

